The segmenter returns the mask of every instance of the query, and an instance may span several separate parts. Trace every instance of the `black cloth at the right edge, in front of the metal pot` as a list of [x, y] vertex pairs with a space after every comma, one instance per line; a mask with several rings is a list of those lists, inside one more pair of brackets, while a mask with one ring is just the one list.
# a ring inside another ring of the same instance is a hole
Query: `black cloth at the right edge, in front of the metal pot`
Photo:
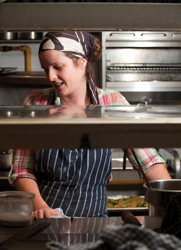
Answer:
[[181, 239], [181, 195], [175, 195], [169, 202], [158, 233], [173, 234]]

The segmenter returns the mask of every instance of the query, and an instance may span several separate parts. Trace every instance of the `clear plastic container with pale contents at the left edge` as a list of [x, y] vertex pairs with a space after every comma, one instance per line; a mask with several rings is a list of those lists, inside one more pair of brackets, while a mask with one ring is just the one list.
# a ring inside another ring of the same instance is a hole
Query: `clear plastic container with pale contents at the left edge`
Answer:
[[0, 192], [0, 226], [23, 227], [32, 223], [35, 194], [26, 191]]

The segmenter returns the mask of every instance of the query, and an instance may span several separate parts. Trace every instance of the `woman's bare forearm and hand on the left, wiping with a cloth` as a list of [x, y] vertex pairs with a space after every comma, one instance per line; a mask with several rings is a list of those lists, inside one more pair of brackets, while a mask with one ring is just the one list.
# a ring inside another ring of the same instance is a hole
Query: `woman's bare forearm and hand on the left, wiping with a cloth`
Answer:
[[[59, 215], [62, 217], [62, 215], [55, 211], [54, 209], [50, 208], [46, 202], [41, 197], [41, 194], [39, 192], [38, 185], [35, 180], [30, 178], [18, 178], [15, 181], [15, 188], [19, 191], [27, 191], [32, 192], [35, 194], [34, 198], [34, 212], [33, 217], [36, 218], [51, 218], [53, 215]], [[63, 217], [62, 217], [63, 218]]]

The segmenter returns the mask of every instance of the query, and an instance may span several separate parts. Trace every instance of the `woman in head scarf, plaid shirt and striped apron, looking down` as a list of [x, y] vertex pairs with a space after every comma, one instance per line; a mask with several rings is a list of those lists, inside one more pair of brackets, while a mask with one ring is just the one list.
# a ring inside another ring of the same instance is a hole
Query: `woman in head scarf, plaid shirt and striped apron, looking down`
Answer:
[[[52, 88], [35, 91], [24, 105], [128, 105], [116, 91], [100, 89], [90, 65], [101, 58], [101, 43], [86, 32], [47, 33], [39, 60]], [[83, 115], [83, 110], [78, 109]], [[169, 179], [162, 156], [151, 148], [134, 149], [149, 180]], [[137, 163], [128, 149], [133, 167]], [[107, 185], [111, 174], [110, 149], [16, 150], [10, 182], [17, 190], [35, 193], [37, 218], [60, 215], [107, 216]]]

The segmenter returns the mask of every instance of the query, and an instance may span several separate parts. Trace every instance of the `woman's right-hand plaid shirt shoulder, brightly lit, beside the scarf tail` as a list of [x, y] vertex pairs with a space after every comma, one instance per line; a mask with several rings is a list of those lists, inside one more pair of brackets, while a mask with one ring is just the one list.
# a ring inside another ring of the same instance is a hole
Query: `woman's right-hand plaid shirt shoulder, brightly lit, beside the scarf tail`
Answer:
[[116, 90], [97, 88], [100, 105], [129, 105], [126, 98]]

